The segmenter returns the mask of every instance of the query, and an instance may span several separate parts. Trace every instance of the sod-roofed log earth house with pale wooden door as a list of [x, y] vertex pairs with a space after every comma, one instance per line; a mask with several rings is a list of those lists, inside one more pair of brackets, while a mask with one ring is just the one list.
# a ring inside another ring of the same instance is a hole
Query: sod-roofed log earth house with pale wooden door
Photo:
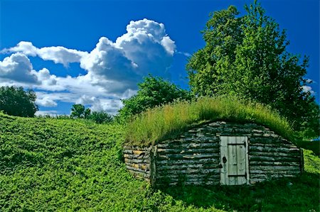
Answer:
[[[196, 112], [198, 116], [193, 116], [197, 106], [188, 106], [186, 103], [183, 103], [185, 106], [156, 108], [137, 118], [138, 123], [133, 123], [129, 128], [134, 130], [136, 127], [140, 131], [139, 135], [147, 135], [140, 137], [144, 140], [141, 143], [132, 143], [129, 140], [131, 136], [128, 135], [124, 145], [124, 162], [129, 172], [146, 179], [152, 186], [255, 184], [280, 177], [296, 177], [303, 172], [303, 152], [285, 138], [288, 137], [289, 128], [276, 113], [261, 106], [247, 106], [238, 102], [229, 109], [222, 109], [219, 114], [219, 108], [210, 109], [210, 104], [206, 102], [212, 101], [213, 104], [216, 99], [201, 101], [196, 104], [208, 106], [205, 108], [206, 115], [202, 118], [203, 111]], [[219, 104], [223, 108], [225, 102]], [[241, 113], [238, 106], [243, 107], [240, 108]], [[250, 108], [247, 110], [250, 111], [250, 116], [242, 114], [245, 108]], [[198, 109], [203, 110], [203, 106]], [[261, 113], [267, 115], [262, 116]], [[193, 118], [180, 118], [182, 120], [177, 121], [179, 114]], [[161, 115], [164, 116], [163, 120], [159, 120]], [[206, 121], [194, 123], [201, 119]], [[171, 121], [176, 123], [172, 124]], [[158, 137], [152, 136], [156, 127], [161, 128], [156, 131]], [[134, 131], [131, 133], [134, 134]], [[148, 142], [148, 138], [156, 139]]]

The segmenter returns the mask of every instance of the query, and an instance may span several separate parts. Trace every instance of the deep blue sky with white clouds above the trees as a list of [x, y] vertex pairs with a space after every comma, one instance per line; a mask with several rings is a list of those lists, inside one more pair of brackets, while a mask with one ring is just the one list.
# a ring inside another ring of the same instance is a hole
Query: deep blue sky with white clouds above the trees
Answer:
[[[116, 113], [149, 72], [188, 88], [188, 56], [205, 45], [210, 11], [252, 1], [0, 0], [0, 86], [36, 91], [38, 114], [72, 104]], [[287, 29], [289, 52], [309, 55], [319, 102], [319, 0], [260, 1]]]

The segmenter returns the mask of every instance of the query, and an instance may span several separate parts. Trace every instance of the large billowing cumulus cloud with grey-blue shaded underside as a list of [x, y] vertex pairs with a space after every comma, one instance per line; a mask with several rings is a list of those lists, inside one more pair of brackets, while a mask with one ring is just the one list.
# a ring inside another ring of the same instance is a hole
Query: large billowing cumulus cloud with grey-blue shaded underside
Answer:
[[120, 94], [137, 89], [147, 74], [169, 78], [175, 49], [164, 24], [147, 19], [130, 21], [127, 33], [115, 43], [100, 38], [95, 49], [82, 57], [80, 67], [87, 70], [92, 84]]

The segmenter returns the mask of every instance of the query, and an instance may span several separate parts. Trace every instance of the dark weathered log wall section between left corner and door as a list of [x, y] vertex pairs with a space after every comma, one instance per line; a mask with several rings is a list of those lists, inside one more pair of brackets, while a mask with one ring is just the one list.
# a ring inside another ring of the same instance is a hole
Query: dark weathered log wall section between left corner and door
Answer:
[[219, 145], [204, 140], [159, 143], [155, 157], [156, 185], [218, 184]]

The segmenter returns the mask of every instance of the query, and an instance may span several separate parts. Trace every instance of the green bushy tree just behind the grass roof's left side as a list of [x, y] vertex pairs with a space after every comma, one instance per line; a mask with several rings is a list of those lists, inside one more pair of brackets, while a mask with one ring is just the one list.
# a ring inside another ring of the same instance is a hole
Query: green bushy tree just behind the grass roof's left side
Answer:
[[124, 107], [120, 109], [119, 116], [124, 120], [146, 111], [147, 108], [168, 104], [176, 99], [191, 99], [188, 91], [150, 74], [144, 78], [144, 82], [138, 84], [138, 87], [136, 95], [122, 100]]

